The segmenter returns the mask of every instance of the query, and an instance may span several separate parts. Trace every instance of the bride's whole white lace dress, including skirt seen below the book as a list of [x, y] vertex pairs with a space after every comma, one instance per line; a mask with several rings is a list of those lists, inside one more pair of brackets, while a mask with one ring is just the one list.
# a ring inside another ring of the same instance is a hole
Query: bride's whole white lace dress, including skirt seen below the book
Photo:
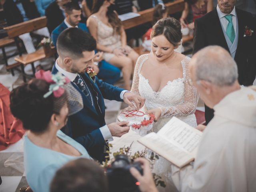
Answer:
[[[196, 111], [199, 96], [196, 92], [196, 88], [190, 86], [187, 81], [190, 58], [185, 57], [181, 61], [183, 77], [168, 81], [158, 92], [155, 92], [148, 80], [140, 74], [142, 65], [147, 59], [148, 54], [144, 54], [137, 60], [131, 92], [146, 98], [145, 107], [148, 110], [154, 108], [164, 109], [162, 110], [160, 119], [153, 124], [152, 131], [158, 132], [173, 116], [176, 116], [192, 127], [196, 127], [196, 116], [194, 112]], [[151, 154], [151, 150], [148, 150], [148, 154]], [[161, 186], [157, 187], [159, 192], [178, 191], [172, 182], [171, 163], [168, 160], [160, 157], [159, 160], [155, 162], [152, 172], [161, 176], [161, 180], [166, 184], [165, 188]]]

